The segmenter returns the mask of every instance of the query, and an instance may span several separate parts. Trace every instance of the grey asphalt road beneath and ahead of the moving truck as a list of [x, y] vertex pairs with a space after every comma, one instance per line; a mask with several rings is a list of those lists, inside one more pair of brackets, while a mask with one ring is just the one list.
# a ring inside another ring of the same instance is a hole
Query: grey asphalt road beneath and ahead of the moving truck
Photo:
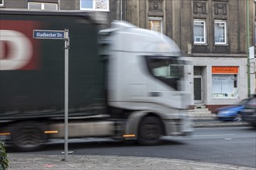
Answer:
[[[256, 130], [250, 127], [196, 128], [192, 137], [164, 138], [157, 146], [86, 138], [72, 141], [69, 149], [74, 155], [177, 158], [256, 168]], [[63, 150], [64, 145], [54, 142], [44, 151], [26, 153], [60, 155]]]

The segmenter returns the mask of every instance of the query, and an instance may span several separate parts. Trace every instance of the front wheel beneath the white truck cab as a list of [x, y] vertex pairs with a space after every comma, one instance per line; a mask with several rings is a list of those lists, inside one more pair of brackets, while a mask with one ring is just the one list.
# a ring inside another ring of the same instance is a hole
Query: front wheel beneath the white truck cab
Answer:
[[138, 129], [138, 143], [140, 145], [157, 145], [164, 131], [158, 117], [144, 117]]

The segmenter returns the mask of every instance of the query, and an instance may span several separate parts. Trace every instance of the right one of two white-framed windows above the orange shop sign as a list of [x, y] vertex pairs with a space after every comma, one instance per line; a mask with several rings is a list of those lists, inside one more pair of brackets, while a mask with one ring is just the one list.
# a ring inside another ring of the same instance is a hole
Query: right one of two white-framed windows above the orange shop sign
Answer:
[[215, 44], [227, 44], [227, 26], [226, 21], [216, 20], [214, 22]]

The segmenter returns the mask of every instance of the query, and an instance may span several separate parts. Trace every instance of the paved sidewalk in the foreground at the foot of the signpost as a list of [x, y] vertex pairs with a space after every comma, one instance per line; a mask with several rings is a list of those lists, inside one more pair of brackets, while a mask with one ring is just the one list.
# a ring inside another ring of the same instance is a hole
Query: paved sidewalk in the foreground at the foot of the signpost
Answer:
[[68, 162], [61, 161], [64, 155], [19, 155], [9, 154], [11, 169], [19, 170], [68, 170], [68, 169], [89, 169], [89, 170], [254, 170], [237, 165], [221, 165], [205, 162], [193, 162], [168, 158], [147, 158], [147, 157], [123, 157], [123, 156], [99, 156], [99, 155], [69, 155]]

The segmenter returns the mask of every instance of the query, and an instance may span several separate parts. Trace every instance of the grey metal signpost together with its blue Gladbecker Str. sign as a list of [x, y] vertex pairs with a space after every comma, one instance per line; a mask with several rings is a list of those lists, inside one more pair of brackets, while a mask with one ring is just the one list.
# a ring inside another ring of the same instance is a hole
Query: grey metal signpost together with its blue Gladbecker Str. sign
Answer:
[[63, 30], [33, 30], [34, 39], [64, 39], [64, 161], [68, 161], [68, 49], [69, 36], [68, 29]]

